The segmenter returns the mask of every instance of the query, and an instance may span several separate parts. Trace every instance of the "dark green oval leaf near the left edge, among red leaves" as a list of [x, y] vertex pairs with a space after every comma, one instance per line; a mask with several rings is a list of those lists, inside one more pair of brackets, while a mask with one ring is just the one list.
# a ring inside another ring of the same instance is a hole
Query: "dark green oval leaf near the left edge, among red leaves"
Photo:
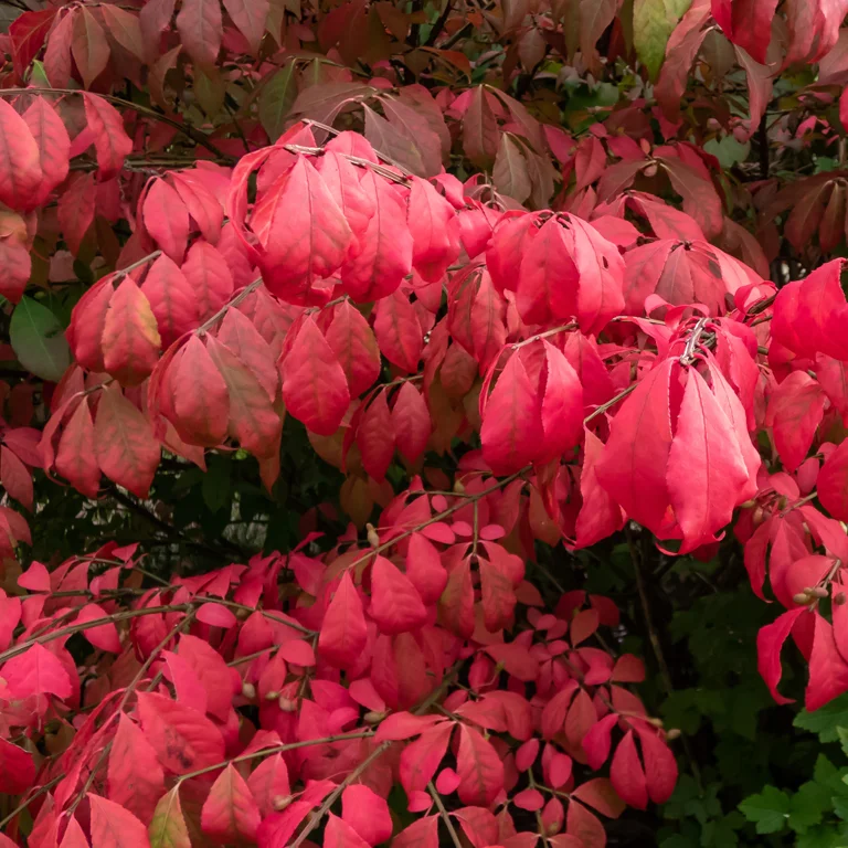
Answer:
[[31, 297], [21, 298], [14, 308], [9, 338], [18, 361], [42, 380], [59, 382], [71, 364], [71, 349], [59, 318]]

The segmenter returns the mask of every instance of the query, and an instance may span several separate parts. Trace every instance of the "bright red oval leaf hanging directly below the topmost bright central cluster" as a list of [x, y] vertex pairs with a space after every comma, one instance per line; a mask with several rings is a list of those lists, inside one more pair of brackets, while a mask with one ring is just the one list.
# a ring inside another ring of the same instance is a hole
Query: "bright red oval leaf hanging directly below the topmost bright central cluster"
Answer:
[[344, 372], [311, 319], [303, 322], [283, 360], [283, 399], [287, 410], [320, 436], [338, 430], [350, 405]]

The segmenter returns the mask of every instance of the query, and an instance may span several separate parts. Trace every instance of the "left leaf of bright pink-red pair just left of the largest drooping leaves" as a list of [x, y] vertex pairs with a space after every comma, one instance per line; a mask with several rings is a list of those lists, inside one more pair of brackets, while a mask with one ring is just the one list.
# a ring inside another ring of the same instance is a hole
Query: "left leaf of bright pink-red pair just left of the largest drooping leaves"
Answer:
[[539, 455], [544, 443], [539, 398], [520, 357], [513, 354], [486, 401], [483, 456], [495, 474], [512, 474]]

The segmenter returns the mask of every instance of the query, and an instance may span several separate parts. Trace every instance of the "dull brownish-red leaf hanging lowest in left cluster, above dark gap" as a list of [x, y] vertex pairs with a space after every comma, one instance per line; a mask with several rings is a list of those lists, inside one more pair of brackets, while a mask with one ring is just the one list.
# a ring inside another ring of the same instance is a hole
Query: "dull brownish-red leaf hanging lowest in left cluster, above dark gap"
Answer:
[[161, 452], [150, 422], [116, 385], [100, 392], [94, 445], [100, 470], [110, 480], [147, 497]]

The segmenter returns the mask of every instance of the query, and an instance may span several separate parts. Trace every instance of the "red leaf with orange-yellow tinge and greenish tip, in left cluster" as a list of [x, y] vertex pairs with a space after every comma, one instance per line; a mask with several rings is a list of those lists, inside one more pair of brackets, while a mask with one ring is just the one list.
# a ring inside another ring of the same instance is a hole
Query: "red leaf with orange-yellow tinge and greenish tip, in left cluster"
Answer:
[[124, 277], [109, 299], [103, 325], [103, 361], [123, 385], [138, 385], [159, 359], [161, 339], [148, 299]]

